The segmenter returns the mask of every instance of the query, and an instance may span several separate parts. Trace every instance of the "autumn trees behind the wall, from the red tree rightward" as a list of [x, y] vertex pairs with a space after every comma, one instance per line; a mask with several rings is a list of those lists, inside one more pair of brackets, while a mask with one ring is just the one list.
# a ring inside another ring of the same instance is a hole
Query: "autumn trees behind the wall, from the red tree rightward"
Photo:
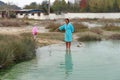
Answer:
[[81, 0], [81, 12], [120, 12], [120, 0]]

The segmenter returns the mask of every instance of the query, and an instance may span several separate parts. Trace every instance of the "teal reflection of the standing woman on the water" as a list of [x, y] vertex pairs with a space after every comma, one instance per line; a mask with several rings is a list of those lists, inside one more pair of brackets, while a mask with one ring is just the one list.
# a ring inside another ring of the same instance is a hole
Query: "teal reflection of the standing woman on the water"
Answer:
[[71, 51], [66, 50], [65, 54], [65, 74], [66, 77], [68, 77], [73, 70], [73, 63], [72, 63], [72, 56], [71, 56]]

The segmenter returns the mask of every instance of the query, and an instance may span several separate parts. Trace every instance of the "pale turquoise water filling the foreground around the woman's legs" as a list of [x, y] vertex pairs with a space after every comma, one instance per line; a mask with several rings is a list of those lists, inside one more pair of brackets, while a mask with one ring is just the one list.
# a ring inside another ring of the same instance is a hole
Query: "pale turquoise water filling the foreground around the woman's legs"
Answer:
[[2, 80], [120, 80], [120, 41], [38, 48], [36, 59], [14, 66]]

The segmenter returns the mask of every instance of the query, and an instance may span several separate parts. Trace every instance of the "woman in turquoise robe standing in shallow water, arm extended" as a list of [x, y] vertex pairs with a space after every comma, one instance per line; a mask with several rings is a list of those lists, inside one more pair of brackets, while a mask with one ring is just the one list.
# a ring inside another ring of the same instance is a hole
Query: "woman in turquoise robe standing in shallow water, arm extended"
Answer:
[[65, 19], [65, 24], [60, 26], [57, 30], [65, 30], [64, 40], [66, 42], [66, 50], [70, 50], [71, 42], [72, 42], [72, 33], [74, 32], [74, 27], [70, 23], [69, 19]]

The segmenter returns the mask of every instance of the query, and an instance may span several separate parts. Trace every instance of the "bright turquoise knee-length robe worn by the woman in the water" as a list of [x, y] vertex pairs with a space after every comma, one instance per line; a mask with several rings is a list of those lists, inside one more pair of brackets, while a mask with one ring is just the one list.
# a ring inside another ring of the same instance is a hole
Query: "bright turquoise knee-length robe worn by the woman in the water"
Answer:
[[59, 27], [59, 30], [65, 30], [65, 37], [64, 40], [65, 42], [71, 42], [72, 41], [72, 33], [74, 32], [74, 27], [71, 23], [64, 24]]

